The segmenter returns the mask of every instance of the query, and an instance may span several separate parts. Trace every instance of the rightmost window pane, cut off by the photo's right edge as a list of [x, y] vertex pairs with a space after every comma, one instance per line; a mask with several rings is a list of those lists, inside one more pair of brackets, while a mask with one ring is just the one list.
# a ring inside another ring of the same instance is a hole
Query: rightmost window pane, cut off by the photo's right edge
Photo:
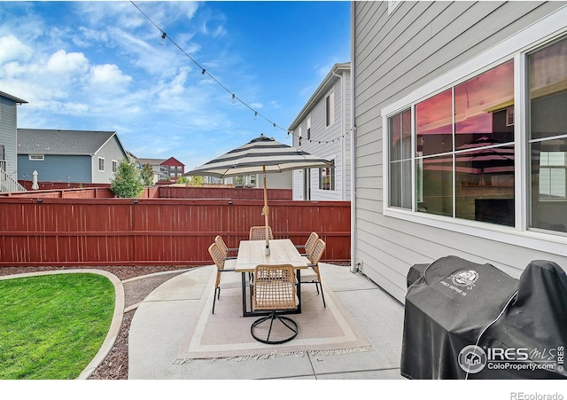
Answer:
[[533, 228], [567, 231], [567, 40], [528, 56]]

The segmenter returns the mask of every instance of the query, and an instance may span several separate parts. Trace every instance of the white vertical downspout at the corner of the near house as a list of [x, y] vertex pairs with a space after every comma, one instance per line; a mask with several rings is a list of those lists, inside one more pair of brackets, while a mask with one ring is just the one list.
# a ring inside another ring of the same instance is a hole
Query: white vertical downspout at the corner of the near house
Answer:
[[356, 123], [354, 121], [354, 2], [351, 2], [351, 272], [359, 271], [356, 263]]

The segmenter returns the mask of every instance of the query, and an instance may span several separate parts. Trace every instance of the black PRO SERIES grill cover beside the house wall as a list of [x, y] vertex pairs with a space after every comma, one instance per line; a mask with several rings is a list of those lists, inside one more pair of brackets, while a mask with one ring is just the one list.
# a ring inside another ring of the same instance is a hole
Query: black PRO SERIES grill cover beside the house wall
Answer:
[[[493, 347], [536, 349], [540, 353], [543, 349], [555, 349], [555, 361], [558, 360], [558, 349], [567, 343], [567, 278], [555, 263], [532, 262], [518, 281], [491, 264], [447, 256], [426, 268], [423, 264], [416, 265], [408, 273], [408, 285], [401, 354], [403, 376], [410, 379], [565, 377], [557, 371], [558, 365], [553, 372], [491, 369], [487, 365], [489, 360], [485, 359], [486, 366], [477, 373], [467, 373], [459, 365], [462, 349], [475, 344], [486, 351]], [[524, 357], [526, 351], [522, 351], [518, 357]], [[509, 354], [513, 355], [513, 350]], [[514, 362], [517, 364], [516, 359]], [[537, 361], [527, 361], [533, 362]]]

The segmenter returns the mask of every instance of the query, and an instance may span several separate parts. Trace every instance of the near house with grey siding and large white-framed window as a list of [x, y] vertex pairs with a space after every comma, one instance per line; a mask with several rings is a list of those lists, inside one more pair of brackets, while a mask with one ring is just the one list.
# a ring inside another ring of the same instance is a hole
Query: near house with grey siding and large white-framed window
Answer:
[[566, 3], [352, 7], [353, 266], [401, 302], [446, 255], [567, 269]]

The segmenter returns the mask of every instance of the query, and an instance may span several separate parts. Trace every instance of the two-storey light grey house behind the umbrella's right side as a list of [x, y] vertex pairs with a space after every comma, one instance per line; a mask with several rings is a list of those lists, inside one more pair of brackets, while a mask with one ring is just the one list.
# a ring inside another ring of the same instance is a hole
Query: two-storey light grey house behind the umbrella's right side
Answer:
[[293, 173], [293, 200], [351, 200], [351, 64], [335, 64], [291, 122], [293, 146], [334, 167]]

